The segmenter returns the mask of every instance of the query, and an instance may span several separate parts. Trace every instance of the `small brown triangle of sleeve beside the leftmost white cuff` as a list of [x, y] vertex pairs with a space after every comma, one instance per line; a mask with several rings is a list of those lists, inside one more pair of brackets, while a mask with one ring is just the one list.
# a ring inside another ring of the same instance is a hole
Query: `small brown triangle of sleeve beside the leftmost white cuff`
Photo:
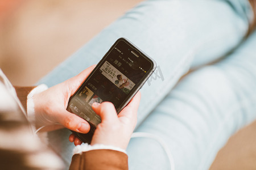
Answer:
[[27, 95], [33, 90], [36, 86], [31, 86], [31, 87], [19, 87], [19, 86], [14, 86], [16, 90], [16, 94], [22, 103], [25, 111], [27, 111]]

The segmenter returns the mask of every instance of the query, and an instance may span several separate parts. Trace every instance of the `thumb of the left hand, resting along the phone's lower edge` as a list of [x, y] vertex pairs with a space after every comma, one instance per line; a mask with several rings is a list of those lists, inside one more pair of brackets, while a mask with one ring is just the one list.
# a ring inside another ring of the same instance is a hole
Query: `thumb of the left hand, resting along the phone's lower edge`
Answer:
[[66, 110], [56, 115], [56, 120], [65, 128], [68, 128], [79, 133], [88, 133], [90, 125], [84, 119], [76, 114], [70, 113]]

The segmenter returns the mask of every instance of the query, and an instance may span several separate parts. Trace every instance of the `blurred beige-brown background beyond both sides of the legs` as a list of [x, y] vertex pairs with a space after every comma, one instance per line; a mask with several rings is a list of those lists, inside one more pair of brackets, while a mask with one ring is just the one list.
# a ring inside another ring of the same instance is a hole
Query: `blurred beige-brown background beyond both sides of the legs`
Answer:
[[[36, 83], [142, 0], [0, 0], [0, 67], [16, 86]], [[210, 170], [256, 169], [256, 122], [238, 131]]]

